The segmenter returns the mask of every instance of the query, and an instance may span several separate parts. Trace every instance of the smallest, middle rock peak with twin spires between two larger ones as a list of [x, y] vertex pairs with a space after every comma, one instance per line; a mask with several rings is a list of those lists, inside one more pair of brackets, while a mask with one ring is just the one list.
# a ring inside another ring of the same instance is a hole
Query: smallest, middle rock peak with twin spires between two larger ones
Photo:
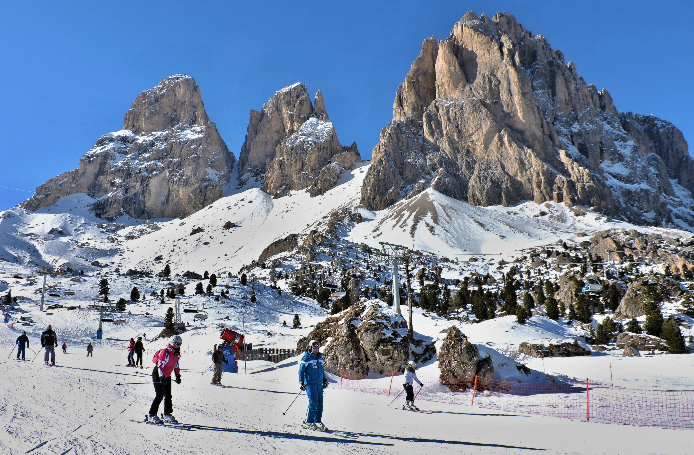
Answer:
[[339, 143], [323, 94], [316, 93], [313, 105], [307, 87], [296, 83], [276, 92], [262, 111], [251, 110], [239, 182], [264, 178], [261, 189], [276, 198], [292, 189], [318, 196], [360, 161], [357, 144]]

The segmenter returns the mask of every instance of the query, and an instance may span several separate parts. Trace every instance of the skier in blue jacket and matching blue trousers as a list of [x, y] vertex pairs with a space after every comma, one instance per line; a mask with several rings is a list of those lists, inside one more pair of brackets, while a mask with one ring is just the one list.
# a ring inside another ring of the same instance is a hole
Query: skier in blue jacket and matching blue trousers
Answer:
[[303, 427], [316, 431], [327, 431], [321, 421], [323, 418], [323, 389], [328, 387], [328, 379], [323, 374], [323, 354], [318, 352], [321, 343], [311, 340], [299, 366], [301, 390], [306, 390], [308, 410]]

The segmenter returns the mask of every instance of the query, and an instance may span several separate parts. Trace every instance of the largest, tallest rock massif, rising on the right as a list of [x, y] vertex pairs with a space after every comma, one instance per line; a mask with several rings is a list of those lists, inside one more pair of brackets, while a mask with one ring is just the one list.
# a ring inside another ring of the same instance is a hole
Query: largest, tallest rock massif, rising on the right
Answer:
[[422, 44], [362, 187], [384, 209], [428, 186], [475, 205], [548, 200], [641, 224], [694, 225], [682, 133], [607, 90], [513, 15], [468, 12]]

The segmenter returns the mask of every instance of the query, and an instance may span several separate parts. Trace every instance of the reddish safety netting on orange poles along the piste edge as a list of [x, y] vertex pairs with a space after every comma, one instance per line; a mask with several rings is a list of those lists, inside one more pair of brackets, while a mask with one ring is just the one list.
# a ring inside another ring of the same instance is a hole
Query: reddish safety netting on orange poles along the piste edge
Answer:
[[[694, 429], [694, 390], [648, 390], [598, 381], [521, 384], [484, 377], [420, 378], [417, 400], [471, 404], [498, 411], [580, 418], [639, 427]], [[340, 387], [403, 397], [403, 377], [342, 371]]]

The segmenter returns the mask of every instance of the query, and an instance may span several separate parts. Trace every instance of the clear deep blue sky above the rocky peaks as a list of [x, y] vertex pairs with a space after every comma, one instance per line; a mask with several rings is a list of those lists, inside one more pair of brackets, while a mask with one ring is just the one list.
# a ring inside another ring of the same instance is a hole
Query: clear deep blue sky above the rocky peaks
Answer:
[[[31, 1], [0, 19], [0, 210], [75, 169], [119, 130], [139, 92], [171, 74], [201, 86], [238, 156], [248, 110], [301, 81], [321, 89], [343, 144], [370, 157], [425, 37], [468, 10], [512, 12], [619, 110], [694, 137], [694, 7], [659, 1]], [[26, 191], [19, 191], [26, 190]]]

